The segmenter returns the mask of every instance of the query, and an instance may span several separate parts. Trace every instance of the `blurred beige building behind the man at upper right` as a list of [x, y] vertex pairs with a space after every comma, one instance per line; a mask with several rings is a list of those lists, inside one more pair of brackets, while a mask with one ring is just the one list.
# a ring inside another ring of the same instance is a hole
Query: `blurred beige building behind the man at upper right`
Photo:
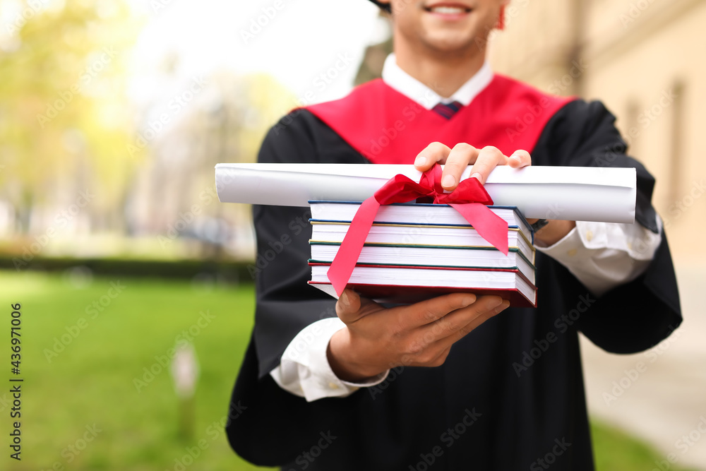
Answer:
[[630, 155], [657, 177], [653, 201], [675, 258], [693, 260], [693, 235], [706, 229], [706, 2], [513, 0], [506, 23], [492, 35], [493, 68], [602, 100]]

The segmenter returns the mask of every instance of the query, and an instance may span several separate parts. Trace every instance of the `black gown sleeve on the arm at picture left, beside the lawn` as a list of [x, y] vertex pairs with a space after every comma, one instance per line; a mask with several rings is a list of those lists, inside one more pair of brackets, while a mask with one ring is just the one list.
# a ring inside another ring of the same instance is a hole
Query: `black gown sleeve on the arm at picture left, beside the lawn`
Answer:
[[[366, 160], [311, 113], [297, 110], [270, 129], [258, 162]], [[311, 274], [309, 217], [309, 208], [253, 205], [256, 321], [233, 390], [226, 431], [234, 451], [258, 465], [294, 460], [322, 430], [354, 410], [346, 406], [348, 398], [306, 403], [277, 386], [269, 374], [299, 331], [336, 315], [335, 299], [306, 284]]]

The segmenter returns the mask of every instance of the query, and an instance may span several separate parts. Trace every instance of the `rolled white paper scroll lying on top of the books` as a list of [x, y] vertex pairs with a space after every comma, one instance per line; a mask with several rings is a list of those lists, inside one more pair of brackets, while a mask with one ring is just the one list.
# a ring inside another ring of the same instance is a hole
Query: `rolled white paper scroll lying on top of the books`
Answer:
[[[285, 206], [363, 201], [395, 174], [421, 177], [413, 165], [218, 164], [215, 172], [224, 203]], [[470, 167], [461, 179], [469, 174]], [[525, 217], [632, 223], [635, 184], [633, 168], [502, 166], [485, 188], [496, 205], [517, 206]]]

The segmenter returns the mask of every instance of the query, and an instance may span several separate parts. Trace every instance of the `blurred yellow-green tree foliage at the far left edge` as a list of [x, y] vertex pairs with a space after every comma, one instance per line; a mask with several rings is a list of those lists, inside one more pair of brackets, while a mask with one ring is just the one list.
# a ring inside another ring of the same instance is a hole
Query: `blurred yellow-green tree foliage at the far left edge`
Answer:
[[137, 162], [124, 152], [131, 116], [119, 52], [133, 45], [139, 23], [124, 4], [100, 5], [47, 4], [24, 24], [8, 25], [3, 38], [0, 181], [17, 232], [28, 232], [32, 211], [94, 181], [102, 191], [93, 213], [114, 213], [126, 197]]

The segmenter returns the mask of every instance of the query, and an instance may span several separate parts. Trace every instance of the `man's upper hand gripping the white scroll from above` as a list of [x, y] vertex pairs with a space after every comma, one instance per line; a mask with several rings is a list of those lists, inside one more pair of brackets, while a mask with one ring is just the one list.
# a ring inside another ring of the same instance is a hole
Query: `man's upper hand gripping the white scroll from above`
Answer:
[[[453, 191], [461, 181], [461, 175], [468, 165], [473, 165], [471, 177], [485, 184], [490, 172], [498, 165], [510, 165], [515, 169], [529, 167], [532, 165], [532, 157], [527, 150], [515, 150], [510, 157], [507, 157], [491, 145], [477, 149], [470, 144], [458, 143], [452, 149], [442, 143], [434, 142], [417, 155], [414, 167], [420, 172], [426, 172], [436, 162], [445, 164], [441, 174], [441, 186], [445, 190]], [[527, 221], [530, 224], [537, 222], [536, 219]], [[545, 246], [550, 246], [563, 239], [574, 227], [576, 227], [574, 221], [550, 220], [548, 225], [534, 234], [534, 238]]]

